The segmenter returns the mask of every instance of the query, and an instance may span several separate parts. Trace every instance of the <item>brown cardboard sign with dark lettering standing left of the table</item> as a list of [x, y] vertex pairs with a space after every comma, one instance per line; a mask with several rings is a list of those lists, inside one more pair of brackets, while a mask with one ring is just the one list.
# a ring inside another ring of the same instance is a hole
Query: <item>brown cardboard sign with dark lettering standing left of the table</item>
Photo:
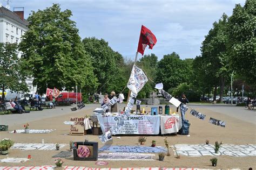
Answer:
[[70, 117], [70, 121], [74, 122], [73, 125], [70, 125], [70, 134], [84, 134], [83, 117]]

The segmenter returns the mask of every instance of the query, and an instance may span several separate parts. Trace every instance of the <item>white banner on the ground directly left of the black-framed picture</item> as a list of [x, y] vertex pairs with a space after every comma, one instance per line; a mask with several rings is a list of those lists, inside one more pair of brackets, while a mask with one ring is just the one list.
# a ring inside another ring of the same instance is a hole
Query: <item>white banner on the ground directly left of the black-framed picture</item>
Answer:
[[[68, 144], [59, 144], [59, 148], [66, 146]], [[41, 144], [41, 143], [15, 143], [12, 149], [20, 149], [20, 150], [56, 150], [56, 144]]]

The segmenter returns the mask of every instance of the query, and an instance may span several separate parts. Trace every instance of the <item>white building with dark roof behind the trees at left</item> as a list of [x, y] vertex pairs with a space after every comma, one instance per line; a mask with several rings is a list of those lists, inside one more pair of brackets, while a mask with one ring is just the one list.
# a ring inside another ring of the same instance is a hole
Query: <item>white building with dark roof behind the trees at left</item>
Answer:
[[[23, 34], [28, 31], [28, 25], [29, 22], [24, 19], [24, 9], [23, 11], [10, 11], [3, 6], [0, 8], [0, 42], [19, 44]], [[21, 54], [22, 52], [18, 52], [19, 57]], [[32, 79], [26, 79], [31, 93], [36, 91], [32, 82]]]

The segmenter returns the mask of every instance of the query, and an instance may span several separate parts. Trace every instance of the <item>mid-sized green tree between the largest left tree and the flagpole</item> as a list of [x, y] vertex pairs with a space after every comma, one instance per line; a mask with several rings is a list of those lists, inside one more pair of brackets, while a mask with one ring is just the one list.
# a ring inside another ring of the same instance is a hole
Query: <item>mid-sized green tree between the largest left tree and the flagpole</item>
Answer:
[[121, 91], [128, 79], [124, 77], [124, 59], [121, 54], [113, 51], [104, 39], [84, 38], [83, 46], [92, 60], [93, 72], [99, 81], [98, 93]]

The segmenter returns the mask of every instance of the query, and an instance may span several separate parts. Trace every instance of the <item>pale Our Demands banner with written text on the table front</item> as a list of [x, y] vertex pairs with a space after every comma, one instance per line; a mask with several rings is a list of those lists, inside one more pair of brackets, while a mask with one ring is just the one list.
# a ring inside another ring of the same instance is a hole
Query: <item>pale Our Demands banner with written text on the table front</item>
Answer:
[[[121, 116], [100, 116], [98, 121], [103, 133], [109, 131], [119, 122]], [[116, 134], [159, 134], [160, 116], [128, 116]]]

